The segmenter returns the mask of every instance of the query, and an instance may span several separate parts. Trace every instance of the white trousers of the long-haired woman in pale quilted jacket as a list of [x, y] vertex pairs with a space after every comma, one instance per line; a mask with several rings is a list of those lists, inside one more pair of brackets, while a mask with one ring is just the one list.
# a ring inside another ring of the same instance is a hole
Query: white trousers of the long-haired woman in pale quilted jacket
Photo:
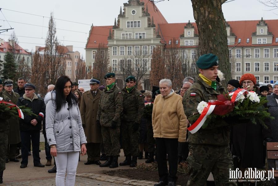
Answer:
[[[78, 165], [79, 152], [62, 152], [57, 153], [55, 157], [57, 173], [57, 186], [70, 186], [75, 183], [76, 169]], [[67, 177], [65, 180], [65, 174]]]

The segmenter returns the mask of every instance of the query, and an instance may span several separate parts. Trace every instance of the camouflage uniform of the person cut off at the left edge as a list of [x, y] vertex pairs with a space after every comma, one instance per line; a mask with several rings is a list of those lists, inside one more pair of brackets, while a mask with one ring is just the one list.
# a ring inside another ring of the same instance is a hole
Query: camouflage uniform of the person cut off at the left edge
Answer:
[[[0, 92], [0, 97], [3, 98], [3, 101], [9, 102], [9, 98], [6, 95], [3, 95]], [[0, 172], [4, 171], [6, 168], [6, 153], [7, 153], [7, 145], [8, 145], [8, 132], [9, 126], [7, 123], [8, 118], [0, 113]]]

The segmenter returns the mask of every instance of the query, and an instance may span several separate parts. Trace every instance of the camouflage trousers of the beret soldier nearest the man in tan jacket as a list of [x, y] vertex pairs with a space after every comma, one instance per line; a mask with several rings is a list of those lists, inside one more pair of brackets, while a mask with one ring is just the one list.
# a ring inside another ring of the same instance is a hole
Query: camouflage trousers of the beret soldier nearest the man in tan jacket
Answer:
[[133, 123], [134, 122], [127, 121], [121, 123], [124, 156], [138, 156], [138, 140], [140, 133], [139, 129], [133, 132]]

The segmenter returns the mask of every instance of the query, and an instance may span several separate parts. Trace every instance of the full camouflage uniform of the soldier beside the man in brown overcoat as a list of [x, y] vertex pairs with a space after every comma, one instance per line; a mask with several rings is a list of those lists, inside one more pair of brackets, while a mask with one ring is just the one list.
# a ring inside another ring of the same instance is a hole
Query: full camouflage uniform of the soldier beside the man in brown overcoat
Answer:
[[[103, 90], [98, 107], [97, 119], [101, 125], [104, 151], [108, 156], [120, 154], [120, 116], [123, 112], [123, 95], [116, 84], [108, 91]], [[112, 129], [112, 121], [117, 123]]]

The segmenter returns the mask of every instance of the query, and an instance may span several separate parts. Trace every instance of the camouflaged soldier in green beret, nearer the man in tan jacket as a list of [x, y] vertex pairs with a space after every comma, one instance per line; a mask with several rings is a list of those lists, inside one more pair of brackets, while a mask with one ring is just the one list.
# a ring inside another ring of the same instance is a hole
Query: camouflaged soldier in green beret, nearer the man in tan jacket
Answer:
[[[144, 96], [137, 90], [136, 78], [128, 76], [123, 88], [123, 115], [121, 133], [125, 160], [120, 166], [136, 167], [138, 157], [139, 125], [144, 112]], [[132, 158], [131, 158], [132, 156]]]

